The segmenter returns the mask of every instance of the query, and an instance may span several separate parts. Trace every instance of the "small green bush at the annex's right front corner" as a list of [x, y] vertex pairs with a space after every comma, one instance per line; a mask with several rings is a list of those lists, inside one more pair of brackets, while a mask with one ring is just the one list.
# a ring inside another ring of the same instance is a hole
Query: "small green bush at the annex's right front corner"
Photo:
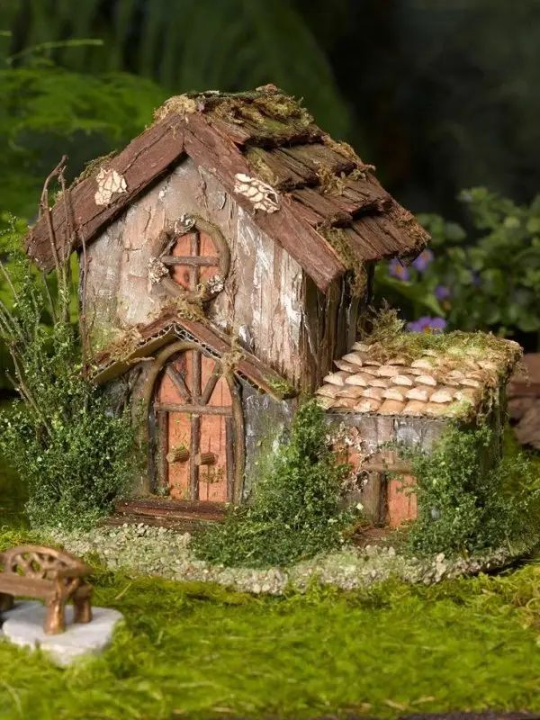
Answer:
[[540, 497], [537, 470], [525, 455], [492, 458], [495, 439], [487, 427], [451, 428], [431, 452], [404, 452], [418, 483], [411, 552], [471, 553], [508, 545], [531, 530]]

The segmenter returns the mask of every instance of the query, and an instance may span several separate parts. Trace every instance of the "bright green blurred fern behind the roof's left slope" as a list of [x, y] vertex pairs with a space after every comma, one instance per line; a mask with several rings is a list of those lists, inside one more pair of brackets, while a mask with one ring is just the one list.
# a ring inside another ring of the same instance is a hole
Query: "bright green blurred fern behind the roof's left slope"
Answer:
[[1, 209], [31, 219], [63, 153], [76, 175], [143, 130], [166, 93], [125, 73], [93, 77], [39, 64], [1, 69], [0, 96]]

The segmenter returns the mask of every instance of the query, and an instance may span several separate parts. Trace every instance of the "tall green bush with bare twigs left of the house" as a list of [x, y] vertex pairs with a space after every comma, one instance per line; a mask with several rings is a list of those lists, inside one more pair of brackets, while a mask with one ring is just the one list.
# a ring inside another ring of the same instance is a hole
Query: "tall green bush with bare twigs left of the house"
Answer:
[[[17, 237], [12, 228], [12, 240]], [[127, 411], [113, 413], [81, 365], [70, 320], [69, 257], [51, 293], [15, 246], [8, 274], [11, 309], [0, 302], [0, 339], [21, 396], [0, 414], [0, 453], [28, 486], [33, 527], [84, 527], [107, 513], [130, 480], [135, 446]], [[45, 324], [49, 320], [49, 325]]]

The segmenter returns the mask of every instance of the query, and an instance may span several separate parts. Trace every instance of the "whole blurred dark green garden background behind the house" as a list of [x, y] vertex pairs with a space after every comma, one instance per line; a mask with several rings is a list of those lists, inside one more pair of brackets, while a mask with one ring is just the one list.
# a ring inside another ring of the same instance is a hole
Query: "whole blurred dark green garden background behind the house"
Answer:
[[[34, 220], [62, 154], [75, 177], [143, 130], [167, 95], [267, 82], [302, 96], [336, 138], [354, 139], [413, 210], [454, 212], [455, 184], [488, 176], [530, 196], [537, 16], [487, 0], [392, 0], [383, 14], [336, 0], [331, 17], [323, 0], [10, 0], [0, 21], [0, 213]], [[435, 259], [405, 281], [379, 268], [378, 293], [410, 320], [538, 333], [538, 202], [475, 190], [464, 207], [466, 229], [425, 216]]]

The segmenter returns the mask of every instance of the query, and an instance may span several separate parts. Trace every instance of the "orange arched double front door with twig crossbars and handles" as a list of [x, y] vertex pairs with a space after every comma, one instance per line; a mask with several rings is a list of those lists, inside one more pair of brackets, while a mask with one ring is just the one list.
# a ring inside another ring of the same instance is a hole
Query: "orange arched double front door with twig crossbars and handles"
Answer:
[[190, 342], [166, 349], [151, 422], [157, 489], [173, 500], [238, 500], [243, 422], [236, 383]]

